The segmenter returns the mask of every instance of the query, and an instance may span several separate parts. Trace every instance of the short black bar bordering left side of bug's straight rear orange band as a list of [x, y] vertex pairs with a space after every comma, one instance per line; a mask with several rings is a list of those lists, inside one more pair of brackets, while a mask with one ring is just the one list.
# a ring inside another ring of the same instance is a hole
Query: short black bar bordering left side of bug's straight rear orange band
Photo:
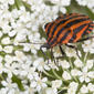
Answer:
[[[70, 43], [72, 43], [75, 39], [76, 39], [76, 34], [77, 34], [77, 32], [80, 32], [85, 25], [87, 25], [87, 24], [83, 24], [83, 25], [80, 25], [79, 28], [76, 28], [75, 30], [73, 30], [73, 36], [70, 39]], [[88, 28], [87, 28], [88, 29]], [[87, 31], [87, 29], [85, 30], [85, 31]], [[84, 31], [84, 32], [85, 32]], [[84, 34], [84, 33], [83, 33]]]

